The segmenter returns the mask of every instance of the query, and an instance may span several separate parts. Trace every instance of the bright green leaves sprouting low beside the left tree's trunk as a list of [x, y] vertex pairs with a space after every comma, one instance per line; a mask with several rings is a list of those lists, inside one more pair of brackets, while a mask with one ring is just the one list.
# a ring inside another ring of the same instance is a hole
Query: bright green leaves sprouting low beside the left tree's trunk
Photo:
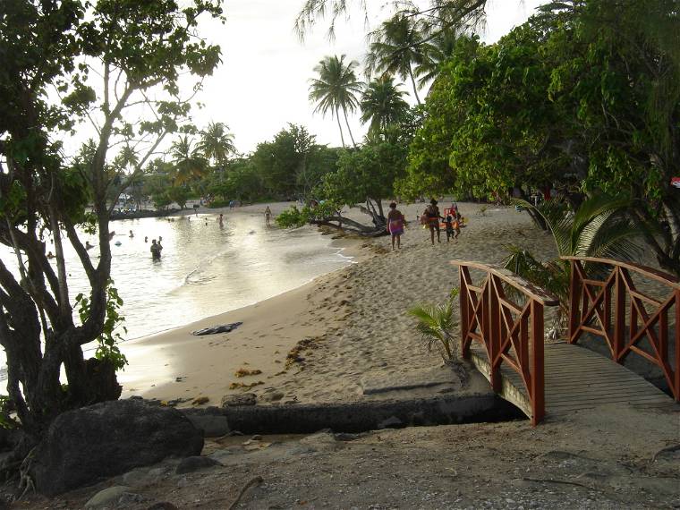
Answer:
[[[78, 316], [84, 324], [89, 319], [91, 302], [82, 293], [75, 297], [75, 302]], [[118, 347], [118, 343], [123, 341], [123, 336], [117, 329], [121, 327], [123, 333], [127, 333], [127, 328], [123, 326], [125, 318], [119, 313], [122, 306], [123, 299], [118, 295], [114, 281], [109, 278], [106, 285], [106, 318], [101, 335], [96, 339], [98, 347], [95, 357], [98, 360], [110, 361], [115, 370], [121, 370], [128, 364], [125, 355]]]

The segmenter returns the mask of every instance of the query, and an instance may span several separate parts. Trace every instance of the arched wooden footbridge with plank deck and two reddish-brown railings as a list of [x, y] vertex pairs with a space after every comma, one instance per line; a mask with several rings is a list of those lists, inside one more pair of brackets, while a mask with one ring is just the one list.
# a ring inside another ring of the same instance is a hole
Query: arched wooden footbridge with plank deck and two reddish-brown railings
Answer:
[[[546, 415], [559, 418], [603, 404], [673, 405], [673, 398], [623, 366], [630, 355], [656, 365], [680, 402], [677, 279], [615, 260], [563, 259], [571, 265], [569, 327], [566, 341], [558, 343], [544, 337], [546, 309], [559, 305], [554, 295], [505, 268], [452, 260], [460, 276], [463, 357], [533, 425]], [[589, 277], [591, 267], [607, 276]], [[481, 274], [477, 285], [471, 270]], [[634, 281], [653, 283], [666, 296], [642, 293]], [[578, 345], [583, 334], [606, 344], [610, 357]]]

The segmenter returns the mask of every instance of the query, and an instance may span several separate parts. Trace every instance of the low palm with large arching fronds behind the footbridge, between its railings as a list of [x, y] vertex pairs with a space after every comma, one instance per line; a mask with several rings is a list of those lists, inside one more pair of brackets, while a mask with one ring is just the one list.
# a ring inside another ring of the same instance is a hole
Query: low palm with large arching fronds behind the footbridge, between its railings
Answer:
[[[533, 206], [525, 200], [514, 200], [524, 208], [533, 209], [542, 217], [557, 245], [560, 256], [599, 257], [633, 260], [641, 252], [634, 239], [638, 230], [625, 216], [630, 200], [594, 195], [584, 200], [576, 210], [560, 200], [547, 200]], [[558, 320], [567, 317], [569, 306], [570, 265], [561, 259], [540, 262], [529, 251], [508, 247], [506, 269], [554, 293], [560, 301]], [[585, 265], [591, 274], [599, 273], [598, 266]]]

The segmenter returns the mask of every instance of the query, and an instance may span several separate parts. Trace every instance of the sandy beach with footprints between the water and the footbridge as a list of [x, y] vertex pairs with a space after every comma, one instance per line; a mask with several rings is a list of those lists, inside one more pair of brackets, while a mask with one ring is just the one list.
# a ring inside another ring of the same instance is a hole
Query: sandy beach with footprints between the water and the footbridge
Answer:
[[[225, 214], [260, 214], [264, 207]], [[287, 207], [272, 209], [276, 215]], [[338, 239], [353, 265], [267, 301], [124, 344], [130, 366], [121, 376], [123, 397], [180, 399], [183, 406], [200, 397], [203, 405], [219, 405], [223, 396], [244, 392], [264, 404], [348, 401], [362, 398], [366, 378], [402, 378], [439, 366], [438, 353], [428, 352], [406, 311], [446, 299], [457, 285], [449, 260], [497, 263], [509, 242], [540, 259], [556, 250], [526, 213], [494, 206], [482, 211], [472, 203], [459, 204], [466, 218], [459, 240], [446, 242], [442, 232], [442, 242], [432, 246], [429, 231], [416, 222], [424, 207], [400, 205], [411, 222], [401, 251], [391, 251], [387, 236]], [[367, 218], [357, 208], [345, 214]], [[231, 333], [191, 335], [234, 322], [243, 324]]]

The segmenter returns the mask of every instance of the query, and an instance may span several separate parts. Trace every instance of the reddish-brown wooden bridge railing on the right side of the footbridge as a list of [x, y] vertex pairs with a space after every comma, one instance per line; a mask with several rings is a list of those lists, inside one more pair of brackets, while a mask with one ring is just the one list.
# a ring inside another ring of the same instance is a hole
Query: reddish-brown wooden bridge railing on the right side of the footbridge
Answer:
[[[625, 361], [630, 353], [654, 363], [663, 372], [676, 402], [680, 402], [680, 284], [675, 276], [630, 262], [593, 257], [562, 257], [571, 264], [569, 289], [570, 344], [583, 332], [601, 336], [612, 359]], [[602, 280], [589, 277], [584, 263], [608, 268]], [[661, 284], [666, 297], [657, 299], [638, 290], [633, 275]], [[647, 309], [647, 306], [651, 310]], [[669, 325], [669, 314], [674, 322]], [[649, 341], [645, 349], [641, 343]], [[669, 344], [673, 344], [673, 352]]]

